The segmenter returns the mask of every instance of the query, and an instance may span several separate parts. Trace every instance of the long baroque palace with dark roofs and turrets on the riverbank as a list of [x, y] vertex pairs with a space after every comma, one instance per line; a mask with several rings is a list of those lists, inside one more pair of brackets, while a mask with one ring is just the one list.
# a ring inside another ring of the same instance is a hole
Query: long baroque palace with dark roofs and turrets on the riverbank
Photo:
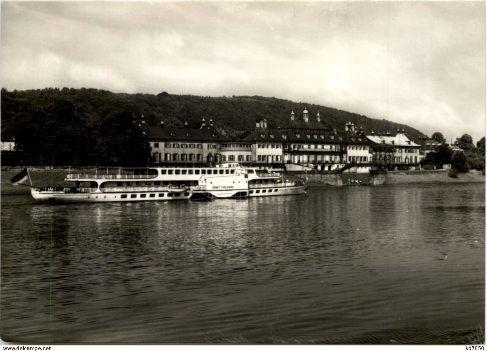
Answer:
[[365, 135], [362, 128], [346, 123], [343, 130], [330, 129], [319, 112], [310, 119], [305, 109], [302, 118], [291, 112], [289, 123], [270, 129], [265, 119], [241, 140], [230, 140], [219, 133], [212, 120], [200, 128], [166, 127], [161, 121], [152, 127], [139, 124], [152, 148], [156, 165], [239, 162], [243, 165], [285, 165], [289, 170], [316, 169], [338, 171], [350, 166], [368, 170], [370, 166], [417, 166], [422, 145], [410, 140], [404, 130]]

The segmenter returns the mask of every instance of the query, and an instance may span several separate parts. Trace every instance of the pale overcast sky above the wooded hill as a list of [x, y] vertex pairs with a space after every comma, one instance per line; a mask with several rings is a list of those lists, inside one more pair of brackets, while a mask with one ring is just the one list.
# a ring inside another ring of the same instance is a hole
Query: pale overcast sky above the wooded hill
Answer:
[[274, 96], [476, 142], [485, 33], [483, 2], [2, 1], [1, 86]]

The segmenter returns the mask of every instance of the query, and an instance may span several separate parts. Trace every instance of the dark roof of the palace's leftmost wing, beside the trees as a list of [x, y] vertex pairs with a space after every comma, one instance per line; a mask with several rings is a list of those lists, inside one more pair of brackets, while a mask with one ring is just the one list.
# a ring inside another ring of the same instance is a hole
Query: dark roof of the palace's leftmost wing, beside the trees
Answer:
[[149, 140], [184, 140], [184, 141], [229, 141], [230, 138], [219, 133], [214, 126], [202, 128], [175, 128], [142, 125], [141, 130]]

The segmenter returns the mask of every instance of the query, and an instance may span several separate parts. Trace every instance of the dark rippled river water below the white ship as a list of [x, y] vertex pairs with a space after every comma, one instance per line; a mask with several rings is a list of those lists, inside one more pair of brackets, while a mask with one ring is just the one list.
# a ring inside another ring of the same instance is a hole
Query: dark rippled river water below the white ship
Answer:
[[1, 205], [3, 340], [442, 344], [484, 326], [484, 184]]

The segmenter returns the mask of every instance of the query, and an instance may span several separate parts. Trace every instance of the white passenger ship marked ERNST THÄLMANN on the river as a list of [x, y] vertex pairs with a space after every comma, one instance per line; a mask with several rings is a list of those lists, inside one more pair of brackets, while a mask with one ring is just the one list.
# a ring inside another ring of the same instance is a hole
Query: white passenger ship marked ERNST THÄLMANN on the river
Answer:
[[[108, 173], [108, 171], [107, 171]], [[186, 200], [301, 194], [304, 182], [225, 163], [216, 167], [117, 169], [117, 174], [68, 174], [73, 187], [31, 188], [45, 202]]]

